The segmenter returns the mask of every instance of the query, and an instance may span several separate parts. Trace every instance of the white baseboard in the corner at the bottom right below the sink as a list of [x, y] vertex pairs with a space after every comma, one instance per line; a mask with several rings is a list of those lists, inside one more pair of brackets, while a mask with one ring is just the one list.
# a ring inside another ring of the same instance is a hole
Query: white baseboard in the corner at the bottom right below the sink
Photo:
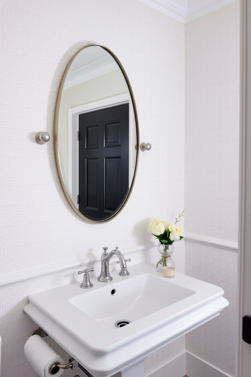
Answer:
[[165, 365], [148, 373], [145, 377], [234, 377], [205, 360], [184, 351]]

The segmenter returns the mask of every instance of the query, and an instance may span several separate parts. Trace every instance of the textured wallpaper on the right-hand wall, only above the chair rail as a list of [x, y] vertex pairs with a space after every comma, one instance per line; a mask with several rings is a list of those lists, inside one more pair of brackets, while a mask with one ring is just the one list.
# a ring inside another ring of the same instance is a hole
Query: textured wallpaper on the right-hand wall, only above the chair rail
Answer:
[[186, 231], [237, 241], [239, 2], [185, 25]]

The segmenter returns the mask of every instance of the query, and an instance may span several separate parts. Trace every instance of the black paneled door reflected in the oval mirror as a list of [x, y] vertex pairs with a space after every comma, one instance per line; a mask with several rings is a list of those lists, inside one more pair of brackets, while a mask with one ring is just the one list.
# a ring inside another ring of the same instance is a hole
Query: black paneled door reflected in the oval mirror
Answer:
[[129, 104], [79, 115], [79, 211], [105, 220], [129, 191]]

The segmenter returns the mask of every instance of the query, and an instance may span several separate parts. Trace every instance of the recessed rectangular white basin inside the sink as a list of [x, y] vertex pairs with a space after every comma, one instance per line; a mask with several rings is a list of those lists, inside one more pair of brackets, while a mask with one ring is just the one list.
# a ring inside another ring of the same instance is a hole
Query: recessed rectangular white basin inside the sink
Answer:
[[[124, 279], [114, 288], [109, 285], [90, 290], [88, 294], [69, 301], [97, 322], [114, 329], [114, 323], [118, 320], [135, 322], [196, 293], [168, 280], [149, 273], [142, 274]], [[116, 293], [111, 294], [113, 289]]]

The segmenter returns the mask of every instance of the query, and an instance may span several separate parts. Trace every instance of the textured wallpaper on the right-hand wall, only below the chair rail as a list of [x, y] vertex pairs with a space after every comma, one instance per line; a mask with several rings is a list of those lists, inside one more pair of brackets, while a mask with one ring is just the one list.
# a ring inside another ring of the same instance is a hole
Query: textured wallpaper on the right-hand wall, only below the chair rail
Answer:
[[186, 275], [218, 285], [229, 306], [219, 316], [186, 334], [186, 349], [235, 375], [237, 315], [237, 253], [186, 241]]

